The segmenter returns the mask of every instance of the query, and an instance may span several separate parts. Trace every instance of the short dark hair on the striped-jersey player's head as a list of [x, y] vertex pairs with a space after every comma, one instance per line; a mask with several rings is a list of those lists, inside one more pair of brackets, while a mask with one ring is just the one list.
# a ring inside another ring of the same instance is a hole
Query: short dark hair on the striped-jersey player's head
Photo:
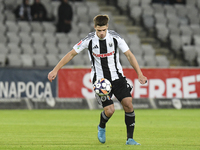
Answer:
[[108, 24], [109, 17], [108, 15], [97, 15], [93, 19], [94, 21], [94, 26], [105, 26]]

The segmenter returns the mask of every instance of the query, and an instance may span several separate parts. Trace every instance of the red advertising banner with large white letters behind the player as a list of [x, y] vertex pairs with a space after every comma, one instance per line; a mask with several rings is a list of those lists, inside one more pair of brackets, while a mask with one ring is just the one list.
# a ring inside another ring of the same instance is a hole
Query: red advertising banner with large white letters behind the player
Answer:
[[[148, 82], [141, 85], [134, 69], [124, 75], [133, 85], [134, 98], [199, 98], [199, 68], [142, 69]], [[61, 69], [58, 73], [58, 97], [94, 98], [90, 69]]]

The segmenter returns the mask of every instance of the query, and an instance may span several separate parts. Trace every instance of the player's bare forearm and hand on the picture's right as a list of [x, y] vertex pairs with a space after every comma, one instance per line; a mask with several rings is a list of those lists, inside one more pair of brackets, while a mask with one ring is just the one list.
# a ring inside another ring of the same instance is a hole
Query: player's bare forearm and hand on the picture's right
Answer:
[[126, 55], [129, 63], [131, 64], [131, 66], [135, 69], [137, 75], [138, 75], [138, 80], [141, 84], [145, 84], [147, 82], [147, 78], [143, 75], [140, 66], [135, 58], [135, 56], [133, 55], [133, 53], [128, 50], [124, 53], [124, 55]]

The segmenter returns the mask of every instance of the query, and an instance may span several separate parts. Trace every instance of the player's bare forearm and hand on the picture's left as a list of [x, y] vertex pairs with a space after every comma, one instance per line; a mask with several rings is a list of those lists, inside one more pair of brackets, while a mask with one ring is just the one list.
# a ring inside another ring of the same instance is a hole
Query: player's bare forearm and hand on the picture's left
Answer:
[[70, 52], [68, 52], [59, 62], [58, 64], [54, 67], [54, 69], [49, 72], [48, 74], [48, 79], [50, 82], [52, 82], [58, 73], [58, 70], [60, 70], [65, 64], [67, 64], [74, 56], [76, 56], [78, 53], [72, 49]]

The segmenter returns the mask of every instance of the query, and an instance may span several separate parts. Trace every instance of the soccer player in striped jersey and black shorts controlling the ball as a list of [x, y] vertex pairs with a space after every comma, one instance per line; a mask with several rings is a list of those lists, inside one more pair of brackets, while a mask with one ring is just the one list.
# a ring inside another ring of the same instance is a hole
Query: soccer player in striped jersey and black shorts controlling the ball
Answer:
[[128, 45], [123, 38], [115, 31], [108, 30], [108, 15], [97, 15], [94, 17], [95, 32], [89, 33], [84, 39], [77, 43], [73, 49], [68, 52], [48, 74], [50, 82], [57, 76], [57, 72], [73, 57], [83, 50], [88, 50], [91, 61], [91, 81], [94, 83], [101, 78], [108, 79], [112, 84], [112, 91], [106, 100], [96, 95], [98, 100], [102, 100], [103, 111], [100, 114], [100, 123], [98, 125], [98, 140], [101, 143], [106, 141], [106, 123], [113, 115], [115, 109], [111, 95], [121, 102], [125, 111], [125, 124], [127, 129], [127, 145], [140, 145], [133, 139], [135, 127], [135, 112], [132, 104], [132, 96], [130, 94], [130, 86], [123, 74], [122, 66], [119, 61], [119, 50], [127, 57], [131, 66], [135, 69], [138, 80], [141, 84], [147, 82], [147, 78], [143, 75], [138, 62], [129, 50]]

